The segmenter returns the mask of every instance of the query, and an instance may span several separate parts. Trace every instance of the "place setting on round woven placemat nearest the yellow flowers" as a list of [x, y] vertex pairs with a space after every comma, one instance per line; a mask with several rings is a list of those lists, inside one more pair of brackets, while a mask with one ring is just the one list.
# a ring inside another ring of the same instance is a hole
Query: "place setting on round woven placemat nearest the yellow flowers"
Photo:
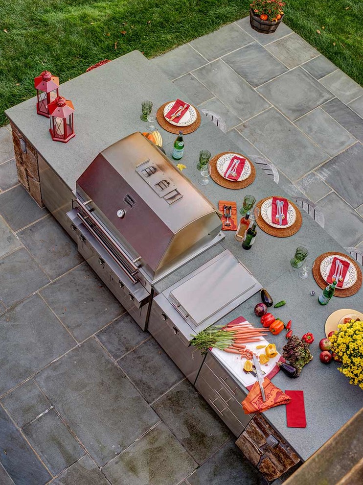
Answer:
[[340, 252], [318, 256], [313, 264], [313, 276], [322, 289], [337, 281], [334, 296], [354, 295], [362, 286], [362, 270], [358, 263]]

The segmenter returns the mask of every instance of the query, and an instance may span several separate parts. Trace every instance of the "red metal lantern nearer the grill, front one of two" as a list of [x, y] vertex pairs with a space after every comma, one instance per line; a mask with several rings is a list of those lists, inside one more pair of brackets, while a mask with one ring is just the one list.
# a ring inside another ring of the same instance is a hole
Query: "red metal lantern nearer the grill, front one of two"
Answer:
[[48, 104], [48, 111], [50, 115], [49, 132], [55, 142], [67, 143], [76, 136], [73, 128], [74, 107], [72, 101], [58, 96]]

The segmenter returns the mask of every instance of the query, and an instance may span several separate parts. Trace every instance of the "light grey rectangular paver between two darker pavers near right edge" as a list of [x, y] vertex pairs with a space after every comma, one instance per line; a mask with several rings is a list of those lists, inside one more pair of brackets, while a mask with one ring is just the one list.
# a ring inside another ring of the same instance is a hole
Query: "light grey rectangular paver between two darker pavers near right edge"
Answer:
[[299, 118], [295, 124], [330, 156], [356, 142], [348, 131], [321, 108]]

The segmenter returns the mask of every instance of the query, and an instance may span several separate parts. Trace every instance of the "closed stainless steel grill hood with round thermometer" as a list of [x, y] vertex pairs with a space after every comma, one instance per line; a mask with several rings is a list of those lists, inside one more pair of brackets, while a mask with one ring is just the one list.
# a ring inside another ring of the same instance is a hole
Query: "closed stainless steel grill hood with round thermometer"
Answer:
[[222, 228], [216, 208], [139, 132], [100, 152], [76, 195], [152, 278]]

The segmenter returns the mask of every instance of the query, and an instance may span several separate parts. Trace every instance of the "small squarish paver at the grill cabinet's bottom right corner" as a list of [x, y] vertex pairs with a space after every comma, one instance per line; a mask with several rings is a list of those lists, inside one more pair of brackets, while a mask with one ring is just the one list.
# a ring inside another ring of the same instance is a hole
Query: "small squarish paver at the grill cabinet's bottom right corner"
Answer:
[[97, 339], [114, 359], [119, 359], [149, 337], [149, 332], [143, 332], [128, 313], [97, 333]]

